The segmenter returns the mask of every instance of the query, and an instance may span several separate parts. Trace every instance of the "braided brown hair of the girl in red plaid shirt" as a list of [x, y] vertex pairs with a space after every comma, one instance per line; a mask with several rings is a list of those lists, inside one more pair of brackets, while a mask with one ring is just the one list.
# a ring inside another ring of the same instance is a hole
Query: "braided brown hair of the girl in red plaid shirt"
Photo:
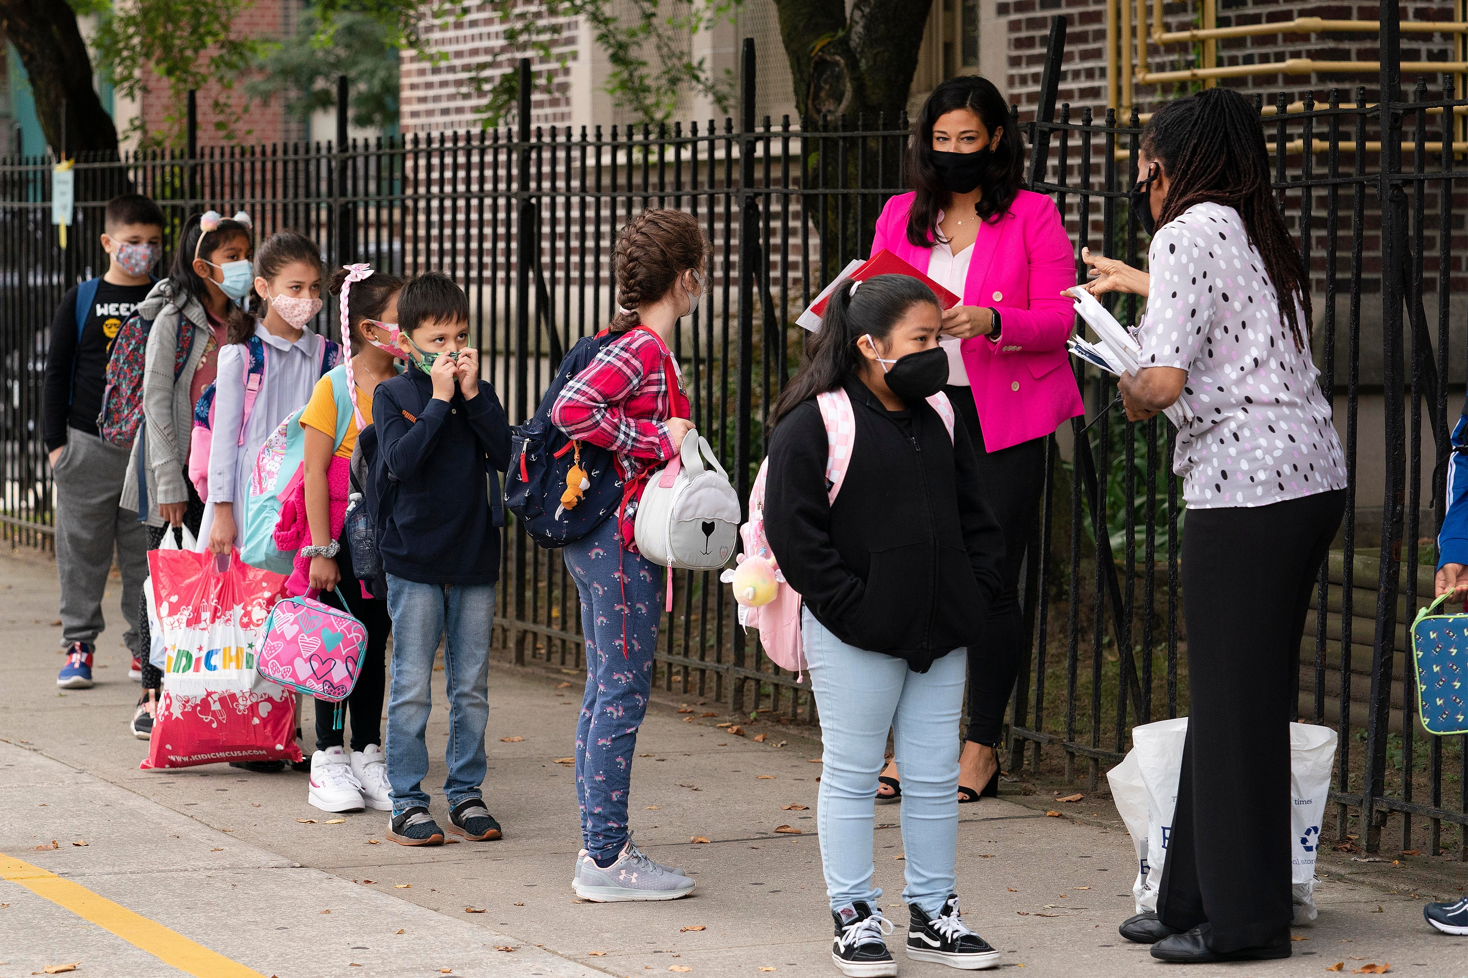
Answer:
[[627, 221], [612, 254], [618, 309], [611, 330], [624, 333], [637, 326], [637, 306], [668, 295], [678, 276], [703, 268], [708, 254], [709, 239], [693, 214], [656, 208]]

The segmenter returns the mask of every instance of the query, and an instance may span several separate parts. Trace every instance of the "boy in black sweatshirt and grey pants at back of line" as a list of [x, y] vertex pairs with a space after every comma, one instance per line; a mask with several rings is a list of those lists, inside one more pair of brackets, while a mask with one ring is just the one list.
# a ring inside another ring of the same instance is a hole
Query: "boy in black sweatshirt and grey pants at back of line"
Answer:
[[[101, 597], [113, 547], [122, 569], [122, 641], [132, 651], [128, 676], [142, 677], [148, 650], [138, 644], [138, 609], [148, 576], [148, 535], [137, 513], [119, 509], [128, 450], [97, 433], [107, 358], [122, 321], [153, 289], [153, 265], [163, 254], [163, 211], [141, 194], [107, 201], [103, 211], [107, 271], [73, 286], [51, 323], [41, 394], [43, 433], [56, 485], [56, 570], [62, 579], [62, 648], [56, 685], [88, 689], [92, 651], [106, 628]], [[84, 304], [85, 308], [78, 308]]]

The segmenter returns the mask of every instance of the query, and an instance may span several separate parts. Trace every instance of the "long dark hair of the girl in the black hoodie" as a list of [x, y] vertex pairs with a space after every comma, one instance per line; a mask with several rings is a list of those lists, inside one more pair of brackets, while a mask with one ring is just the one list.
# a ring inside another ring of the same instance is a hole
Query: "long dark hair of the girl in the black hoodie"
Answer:
[[885, 340], [907, 309], [919, 302], [938, 305], [932, 289], [912, 276], [876, 276], [868, 279], [851, 295], [851, 286], [841, 283], [826, 301], [821, 328], [806, 340], [806, 355], [800, 369], [785, 384], [774, 409], [774, 427], [796, 405], [826, 390], [841, 387], [862, 372], [866, 358], [856, 348], [863, 336]]

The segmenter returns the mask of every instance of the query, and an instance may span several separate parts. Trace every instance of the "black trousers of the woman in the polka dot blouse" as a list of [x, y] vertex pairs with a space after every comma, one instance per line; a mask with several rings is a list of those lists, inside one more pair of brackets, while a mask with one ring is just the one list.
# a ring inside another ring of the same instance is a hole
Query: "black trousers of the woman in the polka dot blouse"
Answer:
[[1191, 509], [1183, 619], [1192, 705], [1157, 912], [1217, 952], [1289, 928], [1289, 720], [1305, 611], [1346, 493]]

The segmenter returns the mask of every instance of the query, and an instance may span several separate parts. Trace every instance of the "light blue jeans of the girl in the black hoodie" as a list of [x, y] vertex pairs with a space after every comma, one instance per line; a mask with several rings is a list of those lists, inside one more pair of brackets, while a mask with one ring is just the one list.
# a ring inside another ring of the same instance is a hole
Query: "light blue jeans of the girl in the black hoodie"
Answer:
[[876, 777], [887, 730], [903, 773], [906, 903], [932, 916], [954, 893], [959, 849], [959, 716], [967, 654], [956, 648], [926, 673], [895, 655], [869, 652], [832, 635], [802, 611], [810, 688], [824, 745], [816, 830], [831, 909], [866, 900], [876, 906], [872, 858]]

